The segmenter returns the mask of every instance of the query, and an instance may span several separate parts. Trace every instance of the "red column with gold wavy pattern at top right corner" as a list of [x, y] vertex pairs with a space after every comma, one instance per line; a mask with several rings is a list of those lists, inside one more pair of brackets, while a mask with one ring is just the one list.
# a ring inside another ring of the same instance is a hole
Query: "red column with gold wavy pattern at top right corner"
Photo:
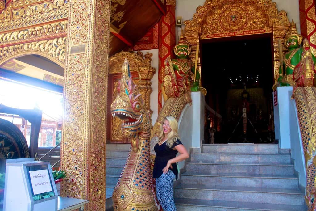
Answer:
[[299, 0], [301, 34], [307, 38], [311, 45], [311, 51], [316, 55], [316, 14], [315, 1]]

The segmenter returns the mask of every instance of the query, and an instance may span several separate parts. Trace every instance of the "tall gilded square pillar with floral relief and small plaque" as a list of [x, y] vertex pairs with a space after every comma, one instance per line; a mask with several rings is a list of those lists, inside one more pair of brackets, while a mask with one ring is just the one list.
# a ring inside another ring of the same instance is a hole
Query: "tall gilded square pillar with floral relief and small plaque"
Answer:
[[[61, 166], [68, 176], [61, 195], [88, 199], [85, 210], [105, 210], [110, 4], [72, 0], [69, 10], [61, 148]], [[72, 45], [83, 43], [87, 51], [70, 55]]]

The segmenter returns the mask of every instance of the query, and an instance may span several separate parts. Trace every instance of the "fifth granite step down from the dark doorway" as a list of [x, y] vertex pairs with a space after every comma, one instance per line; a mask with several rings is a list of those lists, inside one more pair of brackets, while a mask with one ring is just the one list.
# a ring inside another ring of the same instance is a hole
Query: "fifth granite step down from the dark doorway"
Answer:
[[215, 201], [271, 203], [304, 206], [304, 193], [297, 189], [253, 188], [217, 185], [179, 184], [174, 188], [175, 198]]

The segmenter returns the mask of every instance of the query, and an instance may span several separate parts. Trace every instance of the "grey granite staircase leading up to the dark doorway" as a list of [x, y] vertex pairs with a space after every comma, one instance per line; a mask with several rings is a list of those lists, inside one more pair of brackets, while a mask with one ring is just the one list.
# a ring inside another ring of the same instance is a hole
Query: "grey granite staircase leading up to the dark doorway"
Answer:
[[277, 144], [203, 145], [174, 187], [177, 210], [304, 211], [289, 150]]

